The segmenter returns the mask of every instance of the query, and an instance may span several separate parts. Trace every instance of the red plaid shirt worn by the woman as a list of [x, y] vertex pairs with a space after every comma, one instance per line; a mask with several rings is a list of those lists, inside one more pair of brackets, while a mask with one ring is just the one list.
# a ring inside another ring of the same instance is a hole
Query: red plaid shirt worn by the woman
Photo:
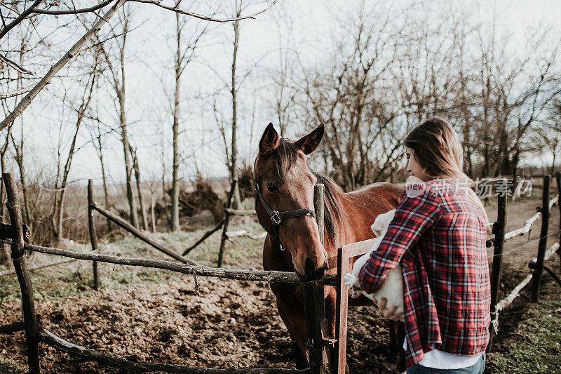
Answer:
[[401, 264], [407, 367], [431, 349], [468, 356], [484, 351], [491, 321], [485, 214], [448, 182], [414, 188], [419, 196], [403, 195], [386, 236], [358, 274], [360, 287], [372, 293]]

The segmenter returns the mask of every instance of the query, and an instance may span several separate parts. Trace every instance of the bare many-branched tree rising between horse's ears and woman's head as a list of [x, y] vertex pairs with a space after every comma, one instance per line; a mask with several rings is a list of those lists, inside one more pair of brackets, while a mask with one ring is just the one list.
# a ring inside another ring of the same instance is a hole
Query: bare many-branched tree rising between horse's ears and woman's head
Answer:
[[341, 25], [345, 36], [334, 46], [331, 65], [302, 67], [304, 112], [312, 114], [311, 123], [325, 124], [324, 152], [346, 189], [386, 175], [402, 153], [393, 137], [402, 110], [391, 69], [398, 62], [403, 24], [395, 25], [392, 14], [364, 3], [357, 19]]

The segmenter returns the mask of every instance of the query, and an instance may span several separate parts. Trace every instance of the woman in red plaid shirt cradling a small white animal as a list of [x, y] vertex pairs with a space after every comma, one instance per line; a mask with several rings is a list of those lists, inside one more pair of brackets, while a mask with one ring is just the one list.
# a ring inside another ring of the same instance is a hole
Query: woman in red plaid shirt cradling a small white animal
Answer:
[[[462, 171], [463, 151], [447, 121], [434, 117], [405, 139], [407, 171], [420, 182], [407, 187], [396, 215], [358, 280], [377, 290], [390, 269], [403, 272], [407, 373], [482, 373], [489, 342], [487, 215]], [[374, 300], [378, 304], [378, 300]]]

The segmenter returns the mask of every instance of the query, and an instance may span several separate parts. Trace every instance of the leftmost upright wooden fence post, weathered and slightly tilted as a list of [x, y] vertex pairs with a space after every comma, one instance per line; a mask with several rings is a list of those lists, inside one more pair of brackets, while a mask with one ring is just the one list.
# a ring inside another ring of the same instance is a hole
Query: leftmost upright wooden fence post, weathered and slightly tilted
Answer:
[[35, 304], [33, 301], [33, 285], [27, 264], [25, 263], [25, 249], [23, 248], [23, 223], [18, 197], [18, 187], [15, 185], [11, 173], [4, 173], [4, 185], [8, 195], [8, 212], [12, 225], [12, 262], [15, 274], [22, 292], [22, 314], [25, 323], [25, 340], [27, 345], [27, 365], [29, 373], [39, 373], [39, 339], [37, 337], [37, 321], [35, 317]]

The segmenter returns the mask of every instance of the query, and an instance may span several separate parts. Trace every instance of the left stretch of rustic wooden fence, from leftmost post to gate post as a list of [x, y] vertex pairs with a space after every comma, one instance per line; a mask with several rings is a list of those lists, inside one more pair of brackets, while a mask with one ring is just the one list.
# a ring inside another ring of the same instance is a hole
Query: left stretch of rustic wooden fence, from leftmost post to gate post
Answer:
[[[328, 352], [328, 345], [333, 341], [325, 337], [325, 326], [327, 321], [325, 319], [325, 305], [323, 303], [323, 286], [335, 286], [336, 279], [334, 275], [328, 275], [322, 281], [310, 281], [302, 283], [297, 279], [295, 273], [292, 272], [275, 272], [275, 271], [248, 271], [237, 269], [222, 269], [214, 267], [203, 267], [189, 263], [188, 260], [181, 258], [183, 263], [163, 261], [163, 260], [149, 260], [142, 258], [122, 258], [119, 256], [102, 255], [99, 253], [79, 253], [75, 251], [68, 251], [60, 248], [48, 248], [43, 246], [34, 246], [32, 244], [24, 243], [22, 217], [20, 211], [20, 203], [18, 199], [18, 189], [15, 185], [11, 173], [4, 173], [4, 184], [6, 185], [6, 193], [8, 194], [8, 211], [10, 213], [11, 225], [13, 228], [13, 238], [11, 241], [4, 241], [4, 243], [11, 244], [11, 258], [15, 273], [18, 276], [22, 293], [22, 312], [23, 321], [17, 321], [8, 325], [0, 326], [0, 333], [13, 333], [15, 331], [25, 330], [26, 348], [27, 348], [27, 365], [29, 373], [39, 373], [39, 342], [44, 342], [51, 347], [66, 352], [71, 356], [77, 356], [85, 361], [97, 361], [99, 363], [128, 370], [133, 373], [144, 373], [148, 371], [159, 371], [163, 373], [200, 373], [200, 374], [241, 374], [241, 373], [311, 373], [323, 374], [329, 373], [330, 363]], [[91, 188], [89, 188], [91, 191]], [[318, 227], [320, 237], [323, 236], [323, 185], [316, 185], [314, 190], [314, 205], [316, 207], [316, 220], [318, 220]], [[99, 206], [96, 206], [91, 201], [91, 193], [89, 194], [90, 201], [88, 204], [88, 218], [91, 216], [91, 211], [95, 209], [103, 214], [104, 211]], [[133, 234], [140, 237], [140, 232], [135, 232], [127, 222], [123, 220], [116, 220], [111, 215], [105, 215], [114, 222], [117, 222], [121, 227], [127, 229]], [[121, 222], [122, 221], [122, 222]], [[137, 231], [137, 230], [136, 230]], [[92, 240], [93, 249], [95, 246], [95, 232], [90, 230], [90, 239]], [[143, 239], [144, 240], [144, 239]], [[147, 241], [149, 242], [149, 241]], [[167, 250], [161, 247], [158, 243], [152, 244], [155, 248]], [[79, 260], [91, 260], [94, 262], [108, 262], [119, 265], [131, 265], [142, 267], [155, 267], [158, 269], [167, 269], [172, 272], [180, 272], [183, 274], [192, 274], [193, 276], [215, 276], [225, 279], [241, 279], [244, 281], [268, 281], [278, 283], [302, 283], [304, 288], [304, 312], [306, 316], [306, 330], [309, 336], [309, 361], [310, 367], [301, 370], [283, 369], [283, 368], [198, 368], [193, 366], [180, 366], [169, 365], [165, 363], [137, 363], [128, 361], [118, 356], [111, 354], [104, 354], [97, 352], [81, 345], [76, 345], [73, 342], [68, 342], [55, 335], [50, 330], [41, 327], [38, 323], [35, 314], [34, 300], [33, 300], [33, 286], [29, 278], [29, 271], [25, 261], [26, 251], [36, 251], [40, 253], [48, 253], [53, 255], [61, 255], [68, 258]], [[166, 253], [166, 251], [163, 251]], [[176, 258], [177, 253], [166, 253]], [[179, 256], [181, 257], [181, 256]], [[180, 260], [179, 258], [176, 258]]]

